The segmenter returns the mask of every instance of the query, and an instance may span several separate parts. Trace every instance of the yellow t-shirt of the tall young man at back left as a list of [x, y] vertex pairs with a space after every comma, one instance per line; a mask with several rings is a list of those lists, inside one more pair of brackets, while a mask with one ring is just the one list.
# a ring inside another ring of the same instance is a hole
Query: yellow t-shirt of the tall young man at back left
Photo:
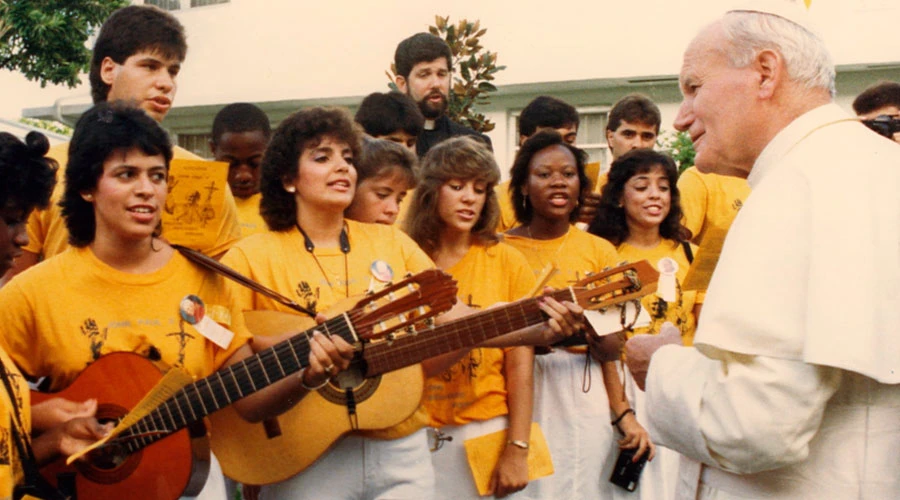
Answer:
[[[186, 160], [202, 160], [199, 156], [190, 151], [174, 147], [172, 148], [173, 158]], [[43, 255], [45, 259], [49, 259], [54, 255], [62, 253], [69, 247], [69, 231], [66, 228], [66, 221], [62, 217], [62, 208], [59, 201], [65, 192], [65, 168], [69, 161], [69, 143], [57, 144], [50, 148], [47, 157], [53, 158], [59, 163], [59, 170], [56, 172], [56, 187], [53, 189], [53, 195], [50, 197], [50, 205], [45, 210], [35, 210], [28, 217], [28, 245], [24, 247], [29, 252]], [[216, 236], [216, 241], [208, 248], [196, 248], [210, 257], [224, 253], [231, 245], [234, 244], [241, 236], [241, 228], [238, 224], [237, 208], [234, 204], [234, 196], [231, 194], [231, 188], [225, 190], [225, 206], [223, 207], [224, 216], [222, 224]], [[166, 215], [164, 213], [163, 218]], [[166, 224], [163, 222], [163, 234], [166, 237]], [[178, 243], [177, 241], [171, 241]]]

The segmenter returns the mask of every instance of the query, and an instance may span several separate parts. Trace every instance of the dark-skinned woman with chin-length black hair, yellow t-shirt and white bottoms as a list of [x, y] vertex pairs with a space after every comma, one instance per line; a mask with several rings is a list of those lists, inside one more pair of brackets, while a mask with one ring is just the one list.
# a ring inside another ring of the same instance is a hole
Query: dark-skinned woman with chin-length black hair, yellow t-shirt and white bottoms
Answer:
[[[556, 269], [548, 282], [556, 288], [619, 262], [609, 242], [573, 226], [589, 189], [585, 158], [582, 150], [548, 130], [522, 144], [510, 170], [509, 190], [520, 225], [506, 233], [506, 241], [525, 255], [535, 274]], [[616, 448], [653, 456], [647, 431], [625, 399], [616, 361], [608, 360], [608, 353], [593, 354], [599, 366], [581, 346], [536, 356], [535, 421], [547, 437], [556, 471], [535, 482], [540, 498], [612, 498], [616, 487], [606, 478]], [[604, 390], [592, 389], [593, 381], [602, 381]], [[618, 447], [614, 427], [624, 435]]]

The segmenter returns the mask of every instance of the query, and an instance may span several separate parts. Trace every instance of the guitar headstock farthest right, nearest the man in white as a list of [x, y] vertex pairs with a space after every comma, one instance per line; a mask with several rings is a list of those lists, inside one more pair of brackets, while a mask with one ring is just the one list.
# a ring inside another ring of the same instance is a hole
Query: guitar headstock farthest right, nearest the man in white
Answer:
[[659, 272], [646, 260], [592, 274], [570, 287], [585, 309], [605, 309], [656, 291]]

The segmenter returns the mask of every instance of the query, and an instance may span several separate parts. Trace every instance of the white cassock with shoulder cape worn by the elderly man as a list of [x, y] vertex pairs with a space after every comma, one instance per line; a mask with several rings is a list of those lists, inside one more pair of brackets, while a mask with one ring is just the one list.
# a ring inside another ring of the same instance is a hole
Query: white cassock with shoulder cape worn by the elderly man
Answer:
[[747, 180], [695, 347], [647, 378], [678, 498], [900, 498], [900, 145], [828, 104]]

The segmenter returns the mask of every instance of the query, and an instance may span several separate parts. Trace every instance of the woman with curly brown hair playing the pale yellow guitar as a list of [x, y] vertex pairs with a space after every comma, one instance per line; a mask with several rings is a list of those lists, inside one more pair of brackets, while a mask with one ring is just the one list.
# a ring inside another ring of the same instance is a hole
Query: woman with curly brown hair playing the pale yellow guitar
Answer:
[[[311, 108], [286, 118], [262, 164], [260, 212], [269, 231], [240, 241], [223, 262], [317, 313], [407, 273], [433, 268], [431, 259], [399, 229], [345, 219], [356, 188], [353, 164], [361, 137], [344, 110]], [[248, 289], [236, 296], [245, 310], [288, 312]], [[575, 305], [548, 300], [542, 309], [552, 318], [552, 331], [571, 332], [580, 321], [571, 312], [580, 312]], [[447, 316], [461, 314], [457, 305]], [[541, 336], [547, 327], [532, 330]], [[336, 376], [342, 366], [324, 368]], [[322, 377], [306, 385], [312, 390], [327, 382]], [[391, 428], [353, 432], [299, 474], [264, 486], [260, 498], [432, 498], [426, 424], [419, 408]]]

